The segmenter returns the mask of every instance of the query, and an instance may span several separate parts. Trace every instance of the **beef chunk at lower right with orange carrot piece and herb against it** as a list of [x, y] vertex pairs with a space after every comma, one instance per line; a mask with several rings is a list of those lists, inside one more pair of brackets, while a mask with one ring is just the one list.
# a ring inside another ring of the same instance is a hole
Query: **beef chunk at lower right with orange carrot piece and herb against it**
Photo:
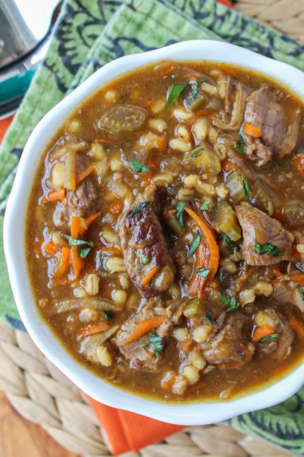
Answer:
[[288, 321], [275, 307], [266, 308], [263, 313], [267, 314], [273, 321], [274, 333], [278, 335], [275, 339], [267, 339], [264, 343], [257, 344], [257, 354], [271, 354], [276, 352], [278, 359], [288, 357], [291, 353], [291, 345], [294, 340], [294, 333], [289, 327]]

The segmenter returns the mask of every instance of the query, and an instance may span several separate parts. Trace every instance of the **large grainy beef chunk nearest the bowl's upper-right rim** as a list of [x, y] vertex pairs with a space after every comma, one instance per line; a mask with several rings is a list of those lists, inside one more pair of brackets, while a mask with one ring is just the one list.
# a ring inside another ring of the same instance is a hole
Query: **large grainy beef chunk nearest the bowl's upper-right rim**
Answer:
[[245, 153], [258, 166], [268, 164], [274, 155], [284, 157], [290, 154], [296, 144], [300, 110], [287, 120], [281, 93], [273, 92], [267, 84], [253, 90], [247, 99], [244, 120], [260, 128], [261, 136], [253, 138], [244, 135]]

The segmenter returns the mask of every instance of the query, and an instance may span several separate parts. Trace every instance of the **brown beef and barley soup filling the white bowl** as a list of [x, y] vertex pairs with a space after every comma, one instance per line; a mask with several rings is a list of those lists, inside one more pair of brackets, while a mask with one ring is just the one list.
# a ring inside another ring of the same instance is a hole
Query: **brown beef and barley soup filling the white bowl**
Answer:
[[273, 381], [304, 356], [303, 178], [303, 102], [274, 81], [171, 61], [111, 81], [36, 173], [41, 315], [138, 395], [226, 399]]

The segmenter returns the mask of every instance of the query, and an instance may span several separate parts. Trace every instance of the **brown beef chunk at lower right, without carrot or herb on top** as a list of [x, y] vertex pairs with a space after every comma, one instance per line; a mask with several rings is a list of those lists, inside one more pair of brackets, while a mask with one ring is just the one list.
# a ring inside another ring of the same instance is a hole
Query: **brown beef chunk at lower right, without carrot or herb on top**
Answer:
[[250, 342], [251, 329], [251, 318], [229, 317], [225, 327], [210, 342], [210, 347], [203, 351], [206, 361], [211, 365], [250, 362], [254, 352], [254, 345]]

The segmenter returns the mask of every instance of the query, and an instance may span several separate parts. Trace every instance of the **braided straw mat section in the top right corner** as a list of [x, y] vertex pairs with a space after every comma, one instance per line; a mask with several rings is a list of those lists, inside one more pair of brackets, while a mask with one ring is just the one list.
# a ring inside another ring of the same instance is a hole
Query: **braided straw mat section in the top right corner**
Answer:
[[303, 0], [238, 0], [233, 1], [233, 7], [294, 39], [304, 41]]

